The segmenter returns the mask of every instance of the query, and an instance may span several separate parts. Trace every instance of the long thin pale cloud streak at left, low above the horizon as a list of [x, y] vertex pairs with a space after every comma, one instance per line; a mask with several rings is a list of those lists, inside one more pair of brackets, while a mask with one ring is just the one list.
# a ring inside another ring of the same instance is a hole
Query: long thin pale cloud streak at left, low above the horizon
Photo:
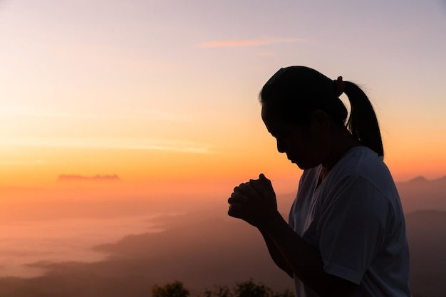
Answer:
[[51, 147], [115, 150], [159, 150], [211, 154], [209, 146], [183, 140], [150, 138], [88, 138], [88, 137], [14, 137], [0, 140], [2, 147]]

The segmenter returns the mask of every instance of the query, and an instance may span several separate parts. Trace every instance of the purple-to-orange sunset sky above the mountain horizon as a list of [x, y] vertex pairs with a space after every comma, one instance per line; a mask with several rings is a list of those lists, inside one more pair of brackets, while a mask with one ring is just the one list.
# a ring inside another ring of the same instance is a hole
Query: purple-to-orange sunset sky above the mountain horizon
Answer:
[[363, 87], [395, 180], [442, 177], [445, 32], [444, 0], [0, 1], [0, 187], [293, 182], [258, 102], [291, 65]]

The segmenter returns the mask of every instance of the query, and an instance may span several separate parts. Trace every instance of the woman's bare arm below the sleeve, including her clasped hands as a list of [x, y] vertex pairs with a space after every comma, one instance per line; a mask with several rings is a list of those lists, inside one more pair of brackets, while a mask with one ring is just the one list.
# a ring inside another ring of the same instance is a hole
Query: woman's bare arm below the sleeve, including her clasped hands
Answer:
[[301, 239], [277, 211], [274, 189], [263, 174], [236, 187], [228, 202], [228, 214], [261, 231], [274, 262], [286, 273], [296, 274], [321, 297], [351, 296], [357, 285], [323, 270], [318, 249]]

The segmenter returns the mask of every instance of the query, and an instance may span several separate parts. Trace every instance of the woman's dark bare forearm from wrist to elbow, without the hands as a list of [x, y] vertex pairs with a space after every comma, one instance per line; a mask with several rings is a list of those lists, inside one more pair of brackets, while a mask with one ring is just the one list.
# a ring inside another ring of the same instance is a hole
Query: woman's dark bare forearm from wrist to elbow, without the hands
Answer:
[[259, 226], [261, 234], [274, 242], [286, 266], [319, 296], [349, 296], [356, 285], [323, 270], [318, 249], [306, 243], [279, 213]]

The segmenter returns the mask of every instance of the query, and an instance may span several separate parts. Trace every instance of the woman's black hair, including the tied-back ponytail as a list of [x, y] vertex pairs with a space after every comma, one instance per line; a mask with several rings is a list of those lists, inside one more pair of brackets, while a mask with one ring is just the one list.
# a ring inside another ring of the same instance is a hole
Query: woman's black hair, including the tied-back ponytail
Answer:
[[309, 123], [314, 110], [323, 110], [363, 145], [384, 156], [378, 120], [367, 95], [349, 81], [344, 82], [343, 93], [351, 105], [348, 119], [336, 80], [305, 66], [290, 66], [281, 68], [266, 82], [259, 100], [291, 123]]

